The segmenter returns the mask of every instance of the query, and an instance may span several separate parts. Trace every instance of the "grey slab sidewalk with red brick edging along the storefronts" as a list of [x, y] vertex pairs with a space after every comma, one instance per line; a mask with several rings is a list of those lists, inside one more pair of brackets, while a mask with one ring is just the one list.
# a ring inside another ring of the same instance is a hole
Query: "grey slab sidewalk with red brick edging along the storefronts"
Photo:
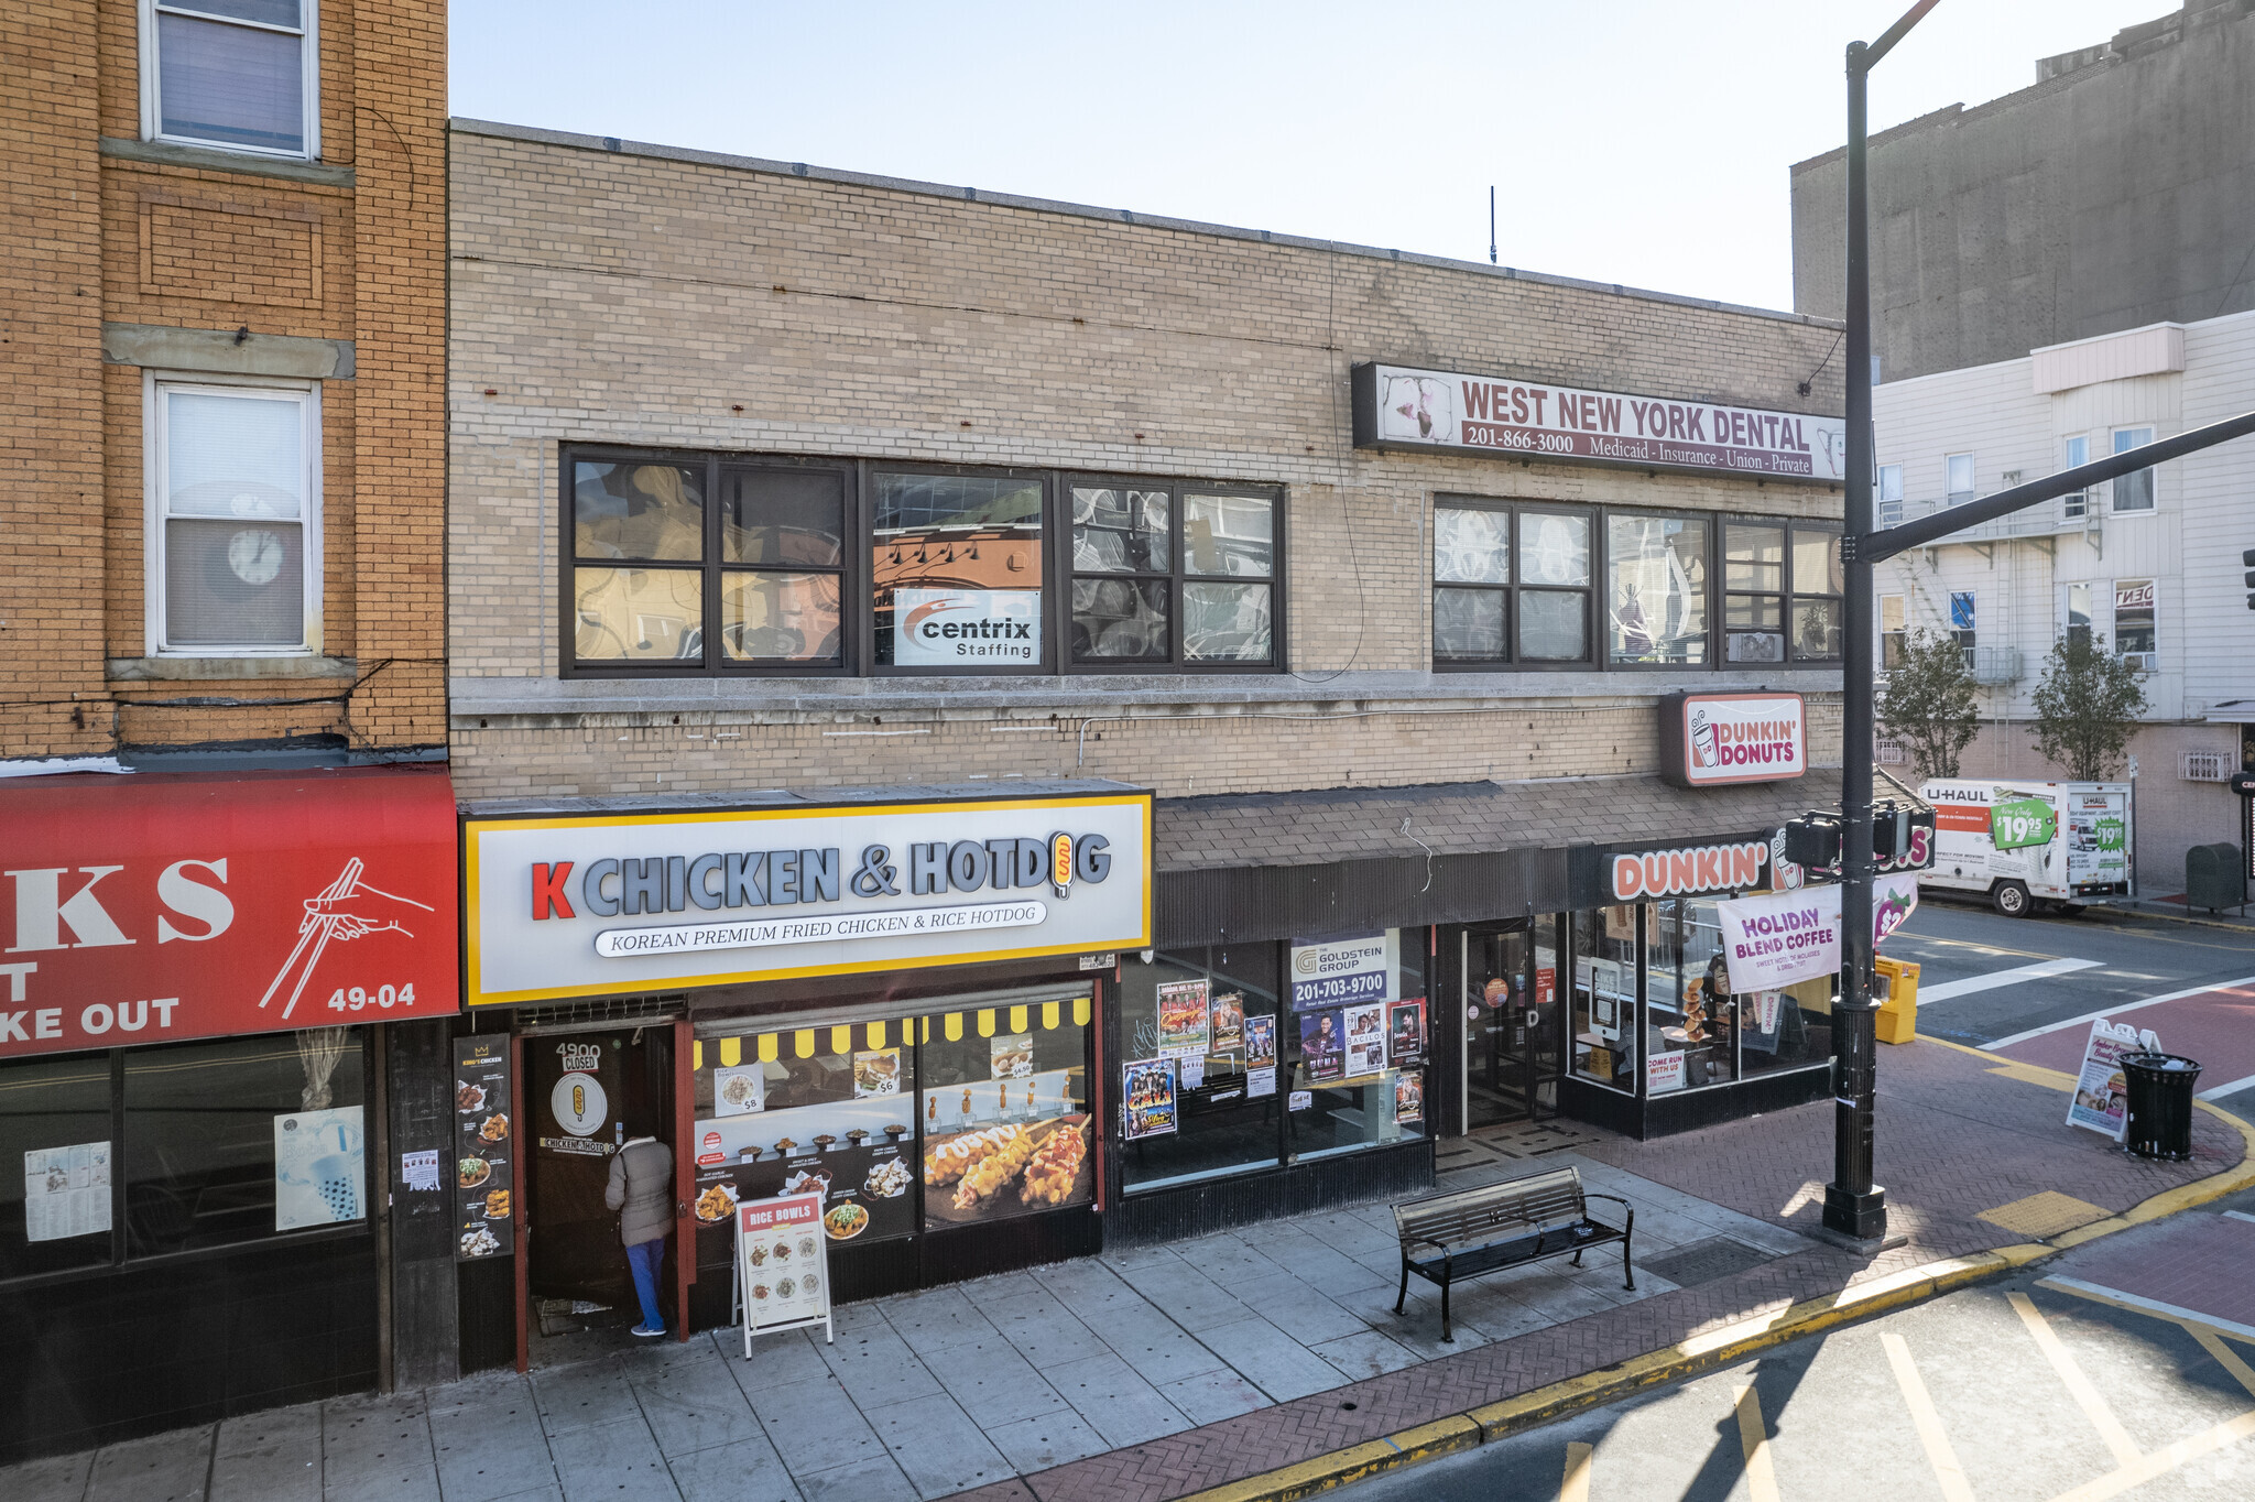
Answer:
[[[1802, 1236], [1831, 1161], [1811, 1105], [1635, 1143], [1572, 1123], [1443, 1143], [1443, 1186], [1576, 1164], [1637, 1209], [1637, 1292], [1603, 1254], [1482, 1279], [1441, 1344], [1396, 1317], [1387, 1207], [1358, 1207], [879, 1299], [837, 1344], [740, 1337], [341, 1398], [0, 1473], [25, 1502], [701, 1497], [1161, 1502], [1599, 1373], [1924, 1263], [2077, 1225], [2239, 1164], [2070, 1132], [2057, 1080], [1946, 1044], [1890, 1049], [1881, 1175], [1908, 1247]], [[1612, 1209], [1612, 1207], [1606, 1207]]]

